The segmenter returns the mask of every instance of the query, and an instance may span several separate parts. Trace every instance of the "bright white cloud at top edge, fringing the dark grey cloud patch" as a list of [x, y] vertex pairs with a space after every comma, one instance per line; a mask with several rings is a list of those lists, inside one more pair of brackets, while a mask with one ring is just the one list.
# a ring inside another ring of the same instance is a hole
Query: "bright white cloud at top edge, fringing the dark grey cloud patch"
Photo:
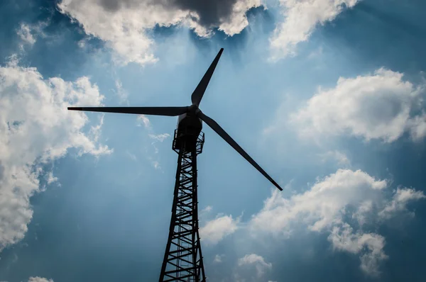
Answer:
[[[178, 1], [115, 1], [114, 7], [109, 7], [107, 2], [62, 0], [58, 9], [80, 23], [85, 33], [107, 42], [122, 64], [156, 62], [153, 55], [154, 41], [148, 35], [148, 31], [156, 25], [187, 26], [202, 37], [209, 36], [213, 28], [200, 23], [199, 13], [202, 11], [173, 5]], [[240, 33], [248, 25], [246, 11], [260, 5], [260, 0], [237, 0], [229, 7], [229, 16], [217, 18], [219, 23], [216, 26], [228, 35]], [[200, 8], [200, 5], [196, 6]]]

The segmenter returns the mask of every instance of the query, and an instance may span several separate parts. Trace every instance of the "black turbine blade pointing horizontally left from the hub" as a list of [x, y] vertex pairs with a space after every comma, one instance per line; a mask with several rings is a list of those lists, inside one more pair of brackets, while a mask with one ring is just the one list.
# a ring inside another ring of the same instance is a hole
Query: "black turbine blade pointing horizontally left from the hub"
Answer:
[[188, 107], [68, 107], [70, 111], [89, 111], [102, 113], [135, 113], [137, 115], [182, 115]]

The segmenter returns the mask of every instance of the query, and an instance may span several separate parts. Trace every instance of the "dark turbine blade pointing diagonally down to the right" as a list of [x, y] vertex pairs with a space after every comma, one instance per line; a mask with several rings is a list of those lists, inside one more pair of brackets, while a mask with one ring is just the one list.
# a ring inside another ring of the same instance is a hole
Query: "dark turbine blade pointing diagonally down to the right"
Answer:
[[234, 139], [231, 138], [231, 136], [229, 136], [228, 133], [225, 132], [225, 130], [223, 130], [223, 128], [220, 127], [219, 124], [217, 124], [216, 121], [214, 121], [212, 118], [209, 118], [207, 115], [204, 115], [204, 113], [202, 113], [202, 111], [197, 113], [198, 117], [201, 118], [204, 123], [207, 123], [207, 125], [209, 125], [210, 128], [212, 128], [212, 130], [214, 130], [217, 134], [219, 134], [220, 137], [222, 137], [226, 142], [228, 142], [229, 145], [231, 145], [231, 147], [233, 147], [236, 152], [239, 152], [239, 154], [241, 154], [241, 156], [244, 157], [244, 159], [246, 159], [249, 163], [251, 163], [253, 165], [253, 167], [255, 167], [258, 171], [261, 172], [261, 174], [263, 174], [263, 176], [265, 176], [269, 181], [271, 181], [271, 183], [273, 185], [275, 185], [275, 187], [277, 187], [278, 189], [280, 189], [280, 191], [283, 191], [283, 188], [281, 188], [272, 178], [271, 176], [269, 176], [266, 171], [264, 171], [261, 166], [259, 166], [254, 159], [252, 159], [249, 154], [246, 153], [246, 151], [243, 150], [243, 148], [240, 147], [240, 145], [237, 144], [237, 142], [234, 141]]

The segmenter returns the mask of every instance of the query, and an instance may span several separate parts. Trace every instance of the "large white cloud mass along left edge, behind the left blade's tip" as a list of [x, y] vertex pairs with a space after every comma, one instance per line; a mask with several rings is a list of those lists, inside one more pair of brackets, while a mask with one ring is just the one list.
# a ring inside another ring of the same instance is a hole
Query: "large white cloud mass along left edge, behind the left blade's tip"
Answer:
[[[102, 96], [87, 77], [74, 82], [43, 79], [35, 68], [12, 61], [0, 67], [0, 251], [20, 241], [33, 216], [30, 198], [40, 192], [40, 164], [78, 154], [109, 154], [99, 145], [100, 125], [84, 133], [84, 113], [69, 112], [76, 104], [99, 106]], [[101, 120], [102, 124], [102, 120]], [[48, 174], [47, 182], [57, 181]]]

